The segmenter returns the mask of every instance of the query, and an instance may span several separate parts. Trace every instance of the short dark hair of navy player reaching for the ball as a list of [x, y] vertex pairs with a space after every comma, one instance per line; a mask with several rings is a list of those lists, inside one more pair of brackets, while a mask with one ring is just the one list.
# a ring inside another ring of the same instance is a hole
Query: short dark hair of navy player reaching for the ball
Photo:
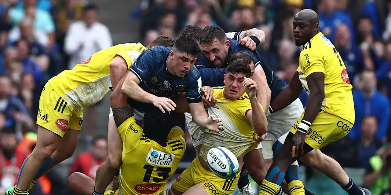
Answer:
[[197, 41], [195, 41], [195, 39], [189, 35], [179, 36], [175, 41], [174, 48], [182, 51], [183, 53], [187, 53], [196, 57], [199, 57], [202, 53], [202, 50], [199, 48]]

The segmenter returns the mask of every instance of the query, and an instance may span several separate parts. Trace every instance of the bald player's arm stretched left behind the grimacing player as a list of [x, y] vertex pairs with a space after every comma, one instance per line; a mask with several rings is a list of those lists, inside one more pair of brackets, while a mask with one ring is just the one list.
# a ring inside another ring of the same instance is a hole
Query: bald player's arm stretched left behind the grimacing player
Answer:
[[289, 106], [299, 97], [301, 90], [293, 90], [290, 85], [291, 84], [285, 87], [285, 89], [283, 89], [280, 94], [271, 101], [270, 107], [273, 109], [273, 112], [277, 112], [278, 110], [282, 110]]

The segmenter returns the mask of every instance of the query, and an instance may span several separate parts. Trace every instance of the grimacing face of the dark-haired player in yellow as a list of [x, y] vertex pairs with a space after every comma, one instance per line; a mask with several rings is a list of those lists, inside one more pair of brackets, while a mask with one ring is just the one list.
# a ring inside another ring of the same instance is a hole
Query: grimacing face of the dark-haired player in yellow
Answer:
[[227, 73], [224, 74], [224, 98], [237, 99], [244, 94], [243, 81], [246, 74], [244, 73]]

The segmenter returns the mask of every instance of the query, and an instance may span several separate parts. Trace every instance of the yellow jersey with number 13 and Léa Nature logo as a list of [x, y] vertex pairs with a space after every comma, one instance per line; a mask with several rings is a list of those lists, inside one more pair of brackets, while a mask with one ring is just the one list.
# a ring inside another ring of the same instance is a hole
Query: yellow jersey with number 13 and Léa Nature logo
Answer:
[[135, 117], [127, 119], [118, 131], [124, 142], [119, 195], [163, 194], [165, 184], [185, 154], [183, 130], [172, 128], [165, 147], [145, 137]]

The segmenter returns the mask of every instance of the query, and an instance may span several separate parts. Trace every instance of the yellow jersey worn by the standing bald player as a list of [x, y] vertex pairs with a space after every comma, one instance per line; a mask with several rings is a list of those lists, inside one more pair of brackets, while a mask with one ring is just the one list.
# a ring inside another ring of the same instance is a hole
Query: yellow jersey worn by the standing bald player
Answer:
[[321, 109], [354, 124], [353, 87], [348, 72], [339, 52], [323, 33], [319, 32], [304, 45], [296, 71], [308, 95], [307, 76], [315, 72], [325, 73], [325, 98]]

